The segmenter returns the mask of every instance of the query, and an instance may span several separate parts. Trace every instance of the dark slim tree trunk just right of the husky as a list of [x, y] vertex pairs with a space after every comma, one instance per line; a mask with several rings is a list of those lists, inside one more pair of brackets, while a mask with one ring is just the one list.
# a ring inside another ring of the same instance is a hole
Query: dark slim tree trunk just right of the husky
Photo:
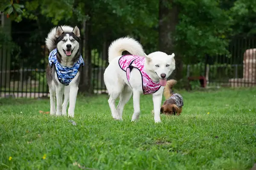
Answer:
[[84, 67], [81, 71], [79, 92], [93, 94], [93, 87], [91, 85], [91, 49], [90, 49], [90, 20], [84, 20], [83, 23], [84, 34], [82, 34], [81, 42], [81, 55], [84, 59]]

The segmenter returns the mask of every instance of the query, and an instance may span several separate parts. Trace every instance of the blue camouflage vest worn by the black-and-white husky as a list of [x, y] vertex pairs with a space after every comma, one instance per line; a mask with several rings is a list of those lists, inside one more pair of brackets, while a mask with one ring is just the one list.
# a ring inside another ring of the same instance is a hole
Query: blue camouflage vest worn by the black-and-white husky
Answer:
[[63, 85], [69, 85], [70, 82], [76, 77], [80, 65], [84, 66], [84, 60], [80, 56], [79, 60], [74, 63], [73, 67], [65, 67], [61, 65], [57, 60], [57, 48], [52, 50], [49, 54], [49, 65], [52, 67], [52, 64], [55, 65], [56, 74], [59, 82]]

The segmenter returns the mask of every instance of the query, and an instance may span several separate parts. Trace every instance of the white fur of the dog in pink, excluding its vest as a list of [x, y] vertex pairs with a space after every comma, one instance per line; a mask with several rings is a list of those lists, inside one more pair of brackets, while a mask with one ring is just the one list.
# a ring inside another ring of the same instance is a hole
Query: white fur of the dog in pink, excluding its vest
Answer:
[[[154, 81], [159, 81], [160, 74], [166, 74], [166, 78], [175, 70], [174, 54], [167, 55], [166, 53], [157, 51], [149, 54], [144, 54], [143, 48], [139, 42], [132, 38], [124, 37], [112, 42], [109, 47], [109, 65], [104, 73], [105, 85], [110, 95], [108, 99], [109, 107], [114, 119], [122, 120], [122, 111], [125, 104], [133, 94], [134, 113], [131, 121], [139, 119], [140, 116], [140, 94], [143, 94], [141, 74], [137, 69], [131, 71], [130, 84], [127, 81], [126, 73], [120, 69], [118, 60], [122, 55], [122, 51], [128, 51], [133, 55], [146, 57], [145, 71], [148, 76]], [[159, 67], [156, 67], [158, 65]], [[169, 65], [166, 67], [166, 65]], [[157, 73], [157, 74], [156, 74]], [[159, 123], [160, 107], [162, 102], [163, 86], [153, 95], [154, 103], [154, 122]], [[115, 100], [120, 97], [117, 108]]]

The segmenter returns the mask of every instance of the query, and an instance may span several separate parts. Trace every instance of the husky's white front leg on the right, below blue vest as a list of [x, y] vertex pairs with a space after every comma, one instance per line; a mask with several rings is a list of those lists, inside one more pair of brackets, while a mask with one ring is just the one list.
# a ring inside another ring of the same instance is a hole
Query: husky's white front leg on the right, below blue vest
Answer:
[[76, 84], [70, 85], [70, 106], [68, 108], [68, 116], [75, 116], [76, 96], [78, 92], [78, 86]]

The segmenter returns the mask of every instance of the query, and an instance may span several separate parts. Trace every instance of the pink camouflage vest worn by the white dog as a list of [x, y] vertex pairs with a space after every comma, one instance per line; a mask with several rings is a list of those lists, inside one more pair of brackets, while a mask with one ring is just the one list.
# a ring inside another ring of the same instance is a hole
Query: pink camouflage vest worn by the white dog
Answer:
[[140, 71], [142, 77], [142, 89], [143, 94], [153, 94], [157, 92], [161, 85], [160, 82], [154, 82], [144, 69], [145, 57], [124, 55], [119, 58], [119, 67], [126, 72], [126, 77], [130, 83], [130, 74], [133, 68], [137, 68]]

